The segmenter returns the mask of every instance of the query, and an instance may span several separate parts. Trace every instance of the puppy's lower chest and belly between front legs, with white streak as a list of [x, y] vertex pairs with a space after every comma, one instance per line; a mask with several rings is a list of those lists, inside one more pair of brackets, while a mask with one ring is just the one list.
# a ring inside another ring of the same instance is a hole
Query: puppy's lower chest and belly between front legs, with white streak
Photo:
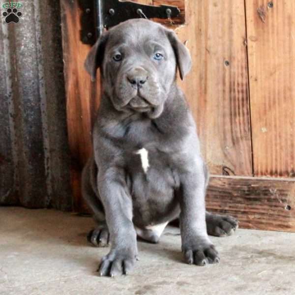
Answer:
[[140, 148], [133, 152], [128, 167], [134, 223], [147, 226], [163, 222], [162, 219], [177, 208], [174, 191], [179, 187], [169, 156], [157, 150]]

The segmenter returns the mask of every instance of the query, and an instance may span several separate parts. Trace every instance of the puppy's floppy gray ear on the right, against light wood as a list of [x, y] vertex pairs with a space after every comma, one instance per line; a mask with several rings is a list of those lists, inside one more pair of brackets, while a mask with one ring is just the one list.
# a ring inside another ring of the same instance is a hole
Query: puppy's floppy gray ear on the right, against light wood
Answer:
[[184, 76], [190, 71], [192, 66], [192, 59], [190, 57], [189, 51], [184, 44], [180, 42], [177, 37], [177, 34], [169, 30], [167, 32], [168, 39], [171, 43], [171, 46], [174, 50], [174, 54], [176, 56], [177, 67], [179, 69], [179, 74], [181, 80], [183, 80]]

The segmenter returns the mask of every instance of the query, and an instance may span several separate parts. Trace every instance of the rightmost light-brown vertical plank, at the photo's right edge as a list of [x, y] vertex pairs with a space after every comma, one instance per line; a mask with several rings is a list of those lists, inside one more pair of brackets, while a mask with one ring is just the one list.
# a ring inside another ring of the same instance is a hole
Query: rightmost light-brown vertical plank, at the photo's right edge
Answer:
[[245, 1], [256, 176], [295, 177], [295, 1]]

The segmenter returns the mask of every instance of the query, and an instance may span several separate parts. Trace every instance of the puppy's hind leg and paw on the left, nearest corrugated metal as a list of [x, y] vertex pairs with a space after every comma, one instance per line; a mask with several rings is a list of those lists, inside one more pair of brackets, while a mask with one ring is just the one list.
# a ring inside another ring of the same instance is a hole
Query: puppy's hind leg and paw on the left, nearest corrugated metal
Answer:
[[93, 157], [91, 157], [82, 173], [82, 195], [93, 212], [97, 226], [89, 232], [87, 239], [95, 247], [106, 247], [109, 245], [110, 234], [105, 220], [104, 208], [99, 200], [95, 185], [96, 175], [97, 167]]

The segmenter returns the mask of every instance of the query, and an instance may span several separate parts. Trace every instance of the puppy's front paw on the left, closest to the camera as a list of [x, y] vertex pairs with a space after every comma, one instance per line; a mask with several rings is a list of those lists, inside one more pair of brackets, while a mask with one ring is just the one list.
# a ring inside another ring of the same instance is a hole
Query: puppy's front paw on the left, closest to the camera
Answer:
[[127, 275], [134, 267], [136, 256], [133, 251], [111, 250], [108, 255], [103, 257], [97, 271], [100, 276]]

